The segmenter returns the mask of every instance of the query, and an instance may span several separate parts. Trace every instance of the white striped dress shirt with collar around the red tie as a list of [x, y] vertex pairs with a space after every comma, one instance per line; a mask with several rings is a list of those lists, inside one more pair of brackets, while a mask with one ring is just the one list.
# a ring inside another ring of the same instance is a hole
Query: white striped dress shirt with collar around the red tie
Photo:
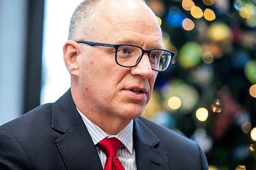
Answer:
[[118, 133], [109, 135], [84, 116], [78, 108], [77, 110], [92, 137], [102, 167], [105, 165], [106, 155], [96, 146], [96, 144], [106, 137], [115, 137], [123, 143], [117, 151], [117, 158], [126, 170], [136, 170], [135, 150], [133, 147], [133, 120]]

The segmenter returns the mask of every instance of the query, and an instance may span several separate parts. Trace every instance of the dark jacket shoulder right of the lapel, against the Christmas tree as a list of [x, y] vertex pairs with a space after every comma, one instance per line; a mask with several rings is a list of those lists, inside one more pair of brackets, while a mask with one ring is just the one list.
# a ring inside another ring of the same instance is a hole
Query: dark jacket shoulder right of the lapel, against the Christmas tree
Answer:
[[205, 154], [196, 141], [144, 117], [138, 121], [158, 138], [155, 149], [164, 151], [169, 161], [175, 162], [170, 165], [171, 169], [208, 169]]

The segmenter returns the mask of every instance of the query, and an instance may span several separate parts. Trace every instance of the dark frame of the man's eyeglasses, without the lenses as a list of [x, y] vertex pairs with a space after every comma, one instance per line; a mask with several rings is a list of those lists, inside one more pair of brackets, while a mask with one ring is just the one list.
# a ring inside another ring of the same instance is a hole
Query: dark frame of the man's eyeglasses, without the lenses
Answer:
[[[101, 42], [92, 42], [92, 41], [76, 41], [77, 43], [84, 43], [84, 44], [88, 44], [88, 45], [90, 45], [90, 46], [108, 46], [108, 47], [114, 47], [115, 48], [115, 60], [116, 60], [116, 63], [118, 64], [118, 65], [120, 65], [120, 66], [122, 66], [122, 67], [135, 67], [136, 65], [138, 65], [139, 63], [140, 63], [140, 61], [141, 61], [141, 59], [142, 59], [142, 57], [143, 57], [143, 55], [144, 54], [147, 54], [147, 56], [148, 56], [148, 58], [150, 58], [150, 53], [152, 52], [152, 51], [154, 51], [154, 50], [161, 50], [161, 51], [165, 51], [165, 52], [167, 52], [167, 53], [170, 53], [170, 61], [169, 61], [169, 63], [168, 63], [168, 65], [167, 65], [167, 67], [165, 68], [165, 69], [163, 69], [163, 70], [156, 70], [156, 69], [154, 69], [154, 68], [152, 68], [151, 67], [151, 69], [153, 69], [153, 70], [155, 70], [155, 71], [158, 71], [158, 72], [163, 72], [163, 71], [165, 71], [168, 67], [169, 67], [169, 65], [170, 65], [170, 63], [172, 63], [172, 60], [173, 60], [173, 57], [175, 56], [175, 53], [174, 52], [171, 52], [171, 51], [168, 51], [168, 50], [164, 50], [164, 49], [159, 49], [159, 48], [153, 48], [153, 49], [151, 49], [151, 50], [144, 50], [142, 47], [140, 47], [140, 46], [137, 46], [137, 45], [132, 45], [132, 44], [107, 44], [107, 43], [101, 43]], [[134, 47], [138, 47], [138, 48], [140, 48], [140, 50], [141, 50], [141, 56], [139, 56], [139, 58], [138, 58], [138, 60], [137, 60], [137, 62], [135, 63], [135, 65], [133, 65], [133, 66], [125, 66], [125, 65], [121, 65], [121, 64], [119, 64], [118, 63], [118, 61], [117, 61], [117, 50], [118, 50], [118, 48], [120, 47], [120, 46], [123, 46], [123, 45], [128, 45], [128, 46], [134, 46]]]

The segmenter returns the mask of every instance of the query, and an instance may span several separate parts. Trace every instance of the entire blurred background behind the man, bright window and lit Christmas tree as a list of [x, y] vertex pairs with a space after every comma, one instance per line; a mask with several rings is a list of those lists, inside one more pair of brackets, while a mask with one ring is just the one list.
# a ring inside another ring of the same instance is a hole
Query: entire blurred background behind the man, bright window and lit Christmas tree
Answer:
[[[81, 0], [0, 1], [0, 125], [70, 87], [62, 57]], [[197, 141], [209, 169], [256, 169], [256, 1], [148, 0], [176, 53], [143, 116]]]

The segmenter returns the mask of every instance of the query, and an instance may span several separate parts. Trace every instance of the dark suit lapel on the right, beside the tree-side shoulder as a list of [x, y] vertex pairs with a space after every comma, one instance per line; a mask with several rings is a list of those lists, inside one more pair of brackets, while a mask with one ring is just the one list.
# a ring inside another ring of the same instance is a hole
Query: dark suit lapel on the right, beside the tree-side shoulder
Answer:
[[134, 121], [134, 146], [137, 170], [169, 169], [168, 155], [156, 149], [160, 139], [140, 118]]

